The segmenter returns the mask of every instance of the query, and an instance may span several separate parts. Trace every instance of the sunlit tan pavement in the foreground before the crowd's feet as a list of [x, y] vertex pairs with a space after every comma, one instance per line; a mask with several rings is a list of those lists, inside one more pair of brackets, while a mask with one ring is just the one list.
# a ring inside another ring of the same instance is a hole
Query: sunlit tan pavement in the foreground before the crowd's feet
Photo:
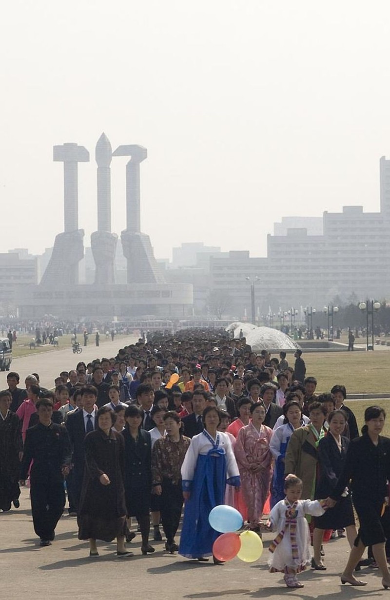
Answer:
[[[301, 590], [287, 590], [280, 574], [268, 572], [265, 550], [258, 562], [239, 559], [223, 566], [199, 564], [181, 556], [166, 554], [164, 542], [154, 542], [153, 555], [140, 554], [139, 535], [133, 544], [132, 559], [115, 558], [115, 545], [98, 542], [100, 557], [89, 559], [88, 544], [77, 539], [76, 519], [64, 516], [59, 521], [53, 545], [40, 548], [29, 512], [28, 490], [23, 488], [20, 509], [0, 513], [0, 556], [2, 583], [0, 598], [51, 600], [176, 600], [233, 598], [290, 598], [309, 600], [389, 598], [380, 584], [378, 571], [364, 568], [359, 577], [368, 581], [364, 590], [341, 586], [340, 574], [348, 555], [345, 539], [326, 545], [328, 571], [308, 571], [299, 579]], [[272, 534], [266, 533], [265, 548]]]

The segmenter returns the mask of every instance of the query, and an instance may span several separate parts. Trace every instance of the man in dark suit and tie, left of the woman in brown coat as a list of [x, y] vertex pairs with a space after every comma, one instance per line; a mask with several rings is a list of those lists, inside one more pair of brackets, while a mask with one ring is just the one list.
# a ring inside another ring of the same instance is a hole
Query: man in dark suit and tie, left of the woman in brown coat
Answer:
[[84, 438], [89, 431], [96, 429], [95, 402], [97, 389], [92, 385], [81, 388], [82, 409], [74, 410], [68, 415], [65, 427], [68, 430], [72, 449], [73, 469], [67, 479], [69, 514], [76, 516], [79, 508], [81, 488], [84, 475]]

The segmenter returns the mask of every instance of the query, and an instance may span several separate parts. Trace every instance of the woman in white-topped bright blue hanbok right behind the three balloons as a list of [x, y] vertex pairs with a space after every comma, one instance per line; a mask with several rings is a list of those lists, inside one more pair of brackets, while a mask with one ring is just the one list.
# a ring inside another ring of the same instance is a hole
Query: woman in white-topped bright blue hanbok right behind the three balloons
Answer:
[[[181, 467], [185, 499], [179, 554], [208, 560], [220, 535], [209, 524], [209, 513], [224, 504], [226, 484], [239, 487], [239, 470], [230, 439], [217, 431], [220, 411], [208, 406], [202, 415], [204, 429], [191, 439]], [[216, 562], [216, 561], [215, 561]]]

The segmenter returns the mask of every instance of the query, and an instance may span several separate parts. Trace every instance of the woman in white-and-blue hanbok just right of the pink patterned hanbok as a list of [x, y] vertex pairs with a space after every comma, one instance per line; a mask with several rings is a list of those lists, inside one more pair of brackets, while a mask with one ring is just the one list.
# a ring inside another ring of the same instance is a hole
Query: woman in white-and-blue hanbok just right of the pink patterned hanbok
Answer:
[[274, 476], [271, 484], [271, 508], [280, 500], [284, 500], [284, 457], [286, 456], [287, 444], [292, 432], [302, 427], [302, 409], [299, 402], [292, 400], [283, 406], [284, 425], [277, 427], [272, 432], [269, 449], [274, 457]]

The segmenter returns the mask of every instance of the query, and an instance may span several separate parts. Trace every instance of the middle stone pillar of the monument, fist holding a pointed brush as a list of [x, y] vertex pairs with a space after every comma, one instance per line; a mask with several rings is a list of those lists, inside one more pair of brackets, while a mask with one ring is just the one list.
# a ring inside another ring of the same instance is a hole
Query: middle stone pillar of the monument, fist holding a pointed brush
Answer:
[[102, 133], [95, 148], [97, 162], [98, 230], [91, 234], [95, 261], [95, 283], [115, 283], [115, 250], [118, 236], [111, 233], [111, 170], [112, 149]]

